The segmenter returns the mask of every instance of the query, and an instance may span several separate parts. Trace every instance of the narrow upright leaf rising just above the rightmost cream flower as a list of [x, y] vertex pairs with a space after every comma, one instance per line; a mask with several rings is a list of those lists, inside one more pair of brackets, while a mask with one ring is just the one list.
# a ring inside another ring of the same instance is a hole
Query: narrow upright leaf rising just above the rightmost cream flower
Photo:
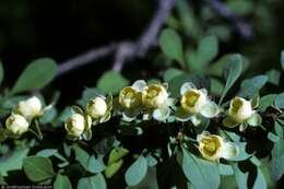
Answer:
[[241, 71], [242, 71], [242, 57], [240, 55], [233, 55], [230, 57], [230, 60], [228, 62], [228, 68], [225, 71], [225, 78], [226, 78], [226, 84], [223, 91], [223, 94], [220, 98], [218, 104], [223, 102], [223, 98], [229, 91], [229, 88], [234, 85], [234, 83], [239, 78]]

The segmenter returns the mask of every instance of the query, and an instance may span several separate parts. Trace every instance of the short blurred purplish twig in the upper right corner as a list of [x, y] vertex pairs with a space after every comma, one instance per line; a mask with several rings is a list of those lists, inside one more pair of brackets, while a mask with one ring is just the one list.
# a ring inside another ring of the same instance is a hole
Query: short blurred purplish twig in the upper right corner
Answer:
[[239, 16], [230, 12], [225, 4], [223, 4], [220, 0], [205, 0], [205, 2], [222, 17], [230, 21], [240, 36], [245, 38], [250, 38], [252, 35], [252, 29], [249, 24], [244, 22]]

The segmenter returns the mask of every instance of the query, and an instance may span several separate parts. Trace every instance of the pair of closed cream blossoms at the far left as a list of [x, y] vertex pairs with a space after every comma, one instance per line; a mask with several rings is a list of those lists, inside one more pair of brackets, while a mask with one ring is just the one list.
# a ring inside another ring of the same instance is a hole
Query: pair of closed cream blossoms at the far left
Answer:
[[23, 134], [28, 130], [31, 122], [49, 108], [50, 106], [43, 108], [40, 99], [36, 96], [21, 101], [5, 120], [7, 133], [13, 137]]

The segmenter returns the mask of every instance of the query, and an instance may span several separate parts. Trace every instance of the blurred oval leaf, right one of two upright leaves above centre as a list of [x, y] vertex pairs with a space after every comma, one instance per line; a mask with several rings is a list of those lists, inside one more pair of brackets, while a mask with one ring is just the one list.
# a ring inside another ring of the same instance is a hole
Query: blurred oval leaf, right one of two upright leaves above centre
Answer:
[[212, 61], [218, 54], [218, 40], [214, 35], [202, 38], [198, 44], [198, 57], [201, 60], [199, 63], [204, 68]]

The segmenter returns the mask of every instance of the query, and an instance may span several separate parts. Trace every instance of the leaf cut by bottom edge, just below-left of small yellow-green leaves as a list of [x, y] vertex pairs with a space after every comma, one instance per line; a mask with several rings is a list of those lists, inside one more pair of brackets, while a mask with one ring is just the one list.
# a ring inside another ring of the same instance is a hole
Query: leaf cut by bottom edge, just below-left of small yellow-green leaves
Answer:
[[106, 189], [106, 180], [102, 174], [92, 177], [81, 178], [78, 184], [78, 189]]

